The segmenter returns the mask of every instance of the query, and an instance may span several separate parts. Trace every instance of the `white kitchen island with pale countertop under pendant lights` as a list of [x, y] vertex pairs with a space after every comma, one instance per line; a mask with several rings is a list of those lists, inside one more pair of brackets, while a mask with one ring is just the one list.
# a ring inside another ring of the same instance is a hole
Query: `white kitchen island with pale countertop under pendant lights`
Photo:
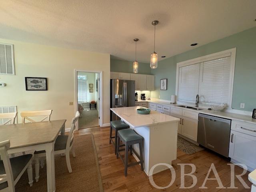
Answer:
[[[151, 111], [150, 114], [138, 114], [137, 109], [144, 108], [120, 107], [111, 108], [117, 116], [144, 138], [144, 172], [149, 176], [152, 166], [158, 163], [172, 164], [177, 158], [178, 122], [180, 119]], [[138, 144], [133, 145], [138, 153]], [[138, 153], [139, 154], [139, 153]], [[138, 158], [134, 155], [135, 159]], [[168, 169], [167, 166], [156, 166], [153, 174]]]

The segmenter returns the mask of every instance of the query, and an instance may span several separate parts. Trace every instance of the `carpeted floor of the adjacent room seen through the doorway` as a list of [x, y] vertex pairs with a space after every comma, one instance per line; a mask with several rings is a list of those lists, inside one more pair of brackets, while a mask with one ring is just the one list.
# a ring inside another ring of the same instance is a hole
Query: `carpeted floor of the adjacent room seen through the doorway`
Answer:
[[79, 117], [79, 129], [99, 126], [98, 110], [95, 108], [84, 108], [82, 117]]

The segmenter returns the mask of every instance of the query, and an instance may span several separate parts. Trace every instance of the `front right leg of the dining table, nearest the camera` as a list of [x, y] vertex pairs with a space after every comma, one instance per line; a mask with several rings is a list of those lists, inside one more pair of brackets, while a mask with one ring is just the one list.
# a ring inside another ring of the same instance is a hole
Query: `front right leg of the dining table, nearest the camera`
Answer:
[[54, 142], [46, 145], [47, 191], [55, 192]]

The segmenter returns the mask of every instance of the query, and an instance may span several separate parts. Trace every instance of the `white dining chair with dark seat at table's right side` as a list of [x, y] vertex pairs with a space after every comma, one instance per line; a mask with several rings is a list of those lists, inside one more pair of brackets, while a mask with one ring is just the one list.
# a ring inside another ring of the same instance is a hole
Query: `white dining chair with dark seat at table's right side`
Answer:
[[[76, 116], [72, 118], [71, 128], [68, 135], [58, 135], [54, 144], [54, 154], [65, 154], [66, 155], [66, 164], [68, 167], [68, 172], [72, 173], [72, 168], [70, 164], [70, 152], [72, 152], [73, 157], [76, 157], [75, 150], [73, 147], [74, 140], [74, 131], [76, 128], [76, 122], [80, 116], [80, 113], [77, 111]], [[35, 174], [36, 182], [39, 179], [39, 158], [46, 156], [45, 151], [36, 151], [35, 153]]]

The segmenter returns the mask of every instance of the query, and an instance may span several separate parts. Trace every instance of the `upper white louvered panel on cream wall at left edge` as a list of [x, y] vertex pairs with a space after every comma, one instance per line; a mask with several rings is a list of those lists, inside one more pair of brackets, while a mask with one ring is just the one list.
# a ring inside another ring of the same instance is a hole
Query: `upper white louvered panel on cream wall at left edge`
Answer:
[[0, 44], [0, 74], [14, 74], [13, 45]]

